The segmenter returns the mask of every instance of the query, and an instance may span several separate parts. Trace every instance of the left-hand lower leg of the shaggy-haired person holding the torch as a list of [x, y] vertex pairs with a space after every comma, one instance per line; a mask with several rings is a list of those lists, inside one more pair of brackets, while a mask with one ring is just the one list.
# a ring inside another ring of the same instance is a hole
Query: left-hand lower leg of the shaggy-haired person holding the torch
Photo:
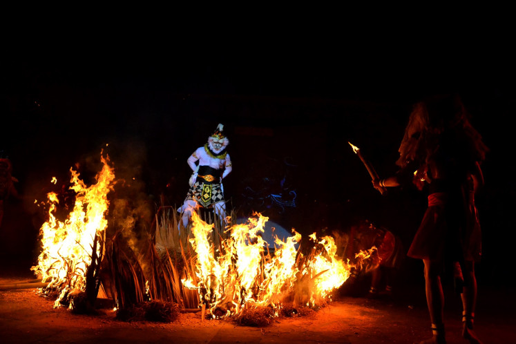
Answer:
[[432, 321], [432, 337], [421, 343], [446, 343], [443, 324], [444, 296], [441, 286], [441, 264], [423, 259], [425, 263], [426, 303]]

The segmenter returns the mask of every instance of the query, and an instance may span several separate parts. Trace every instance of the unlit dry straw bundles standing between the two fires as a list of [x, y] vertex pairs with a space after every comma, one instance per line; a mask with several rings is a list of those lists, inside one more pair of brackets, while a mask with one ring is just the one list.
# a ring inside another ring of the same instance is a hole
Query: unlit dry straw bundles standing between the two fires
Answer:
[[189, 230], [178, 231], [176, 213], [173, 207], [158, 210], [155, 233], [145, 242], [140, 240], [140, 254], [120, 231], [109, 240], [103, 285], [115, 299], [120, 318], [142, 318], [138, 315], [141, 307], [136, 305], [150, 300], [174, 303], [181, 309], [198, 308], [197, 292], [181, 283], [182, 278], [195, 276], [195, 252], [191, 250]]

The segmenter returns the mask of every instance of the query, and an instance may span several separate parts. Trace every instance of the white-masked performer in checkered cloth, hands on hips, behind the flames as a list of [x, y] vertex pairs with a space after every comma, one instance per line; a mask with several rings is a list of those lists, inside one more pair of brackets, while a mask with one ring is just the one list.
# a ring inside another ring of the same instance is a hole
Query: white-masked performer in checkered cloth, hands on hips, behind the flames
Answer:
[[199, 147], [190, 155], [187, 162], [193, 173], [187, 198], [180, 209], [182, 224], [187, 227], [191, 212], [196, 207], [213, 209], [221, 223], [226, 222], [226, 202], [222, 180], [231, 173], [231, 158], [226, 148], [229, 140], [224, 135], [224, 126], [218, 124], [208, 137], [207, 144]]

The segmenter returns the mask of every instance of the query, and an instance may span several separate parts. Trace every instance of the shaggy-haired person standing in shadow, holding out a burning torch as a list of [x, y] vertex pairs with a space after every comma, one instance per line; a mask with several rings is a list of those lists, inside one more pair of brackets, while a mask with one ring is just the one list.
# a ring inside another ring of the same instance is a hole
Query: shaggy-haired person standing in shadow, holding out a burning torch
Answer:
[[[458, 96], [434, 97], [414, 106], [399, 148], [401, 169], [374, 180], [374, 187], [396, 187], [409, 181], [428, 183], [428, 208], [408, 256], [423, 260], [426, 297], [433, 336], [423, 343], [446, 343], [443, 324], [443, 267], [453, 265], [463, 304], [462, 336], [480, 343], [473, 332], [477, 300], [475, 262], [481, 254], [475, 192], [484, 184], [480, 163], [488, 148], [468, 120]], [[461, 274], [464, 273], [464, 274]]]

